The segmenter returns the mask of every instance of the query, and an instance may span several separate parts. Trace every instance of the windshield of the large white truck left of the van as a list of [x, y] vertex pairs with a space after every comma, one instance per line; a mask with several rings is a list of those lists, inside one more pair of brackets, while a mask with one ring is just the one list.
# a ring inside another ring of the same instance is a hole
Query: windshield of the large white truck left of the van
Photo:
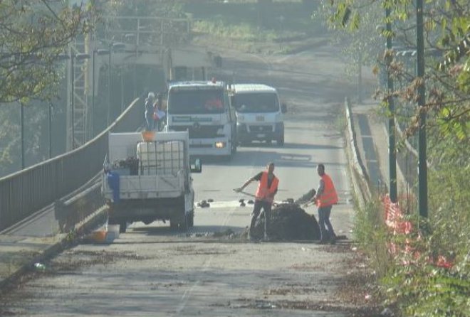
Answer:
[[170, 90], [169, 114], [220, 114], [224, 113], [222, 90]]

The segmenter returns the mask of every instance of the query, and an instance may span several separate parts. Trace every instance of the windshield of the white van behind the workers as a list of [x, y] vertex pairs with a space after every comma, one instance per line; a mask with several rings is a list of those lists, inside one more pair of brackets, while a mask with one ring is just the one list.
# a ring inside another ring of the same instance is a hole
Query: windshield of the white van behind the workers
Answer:
[[277, 112], [278, 98], [272, 92], [251, 92], [235, 95], [236, 111], [241, 113]]

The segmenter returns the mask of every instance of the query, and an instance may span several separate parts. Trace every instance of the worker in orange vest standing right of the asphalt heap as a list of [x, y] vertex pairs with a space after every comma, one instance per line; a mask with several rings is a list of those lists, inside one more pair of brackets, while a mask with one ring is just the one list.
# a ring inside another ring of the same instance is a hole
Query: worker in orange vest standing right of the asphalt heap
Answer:
[[[338, 194], [335, 185], [330, 176], [325, 173], [325, 166], [318, 164], [318, 176], [320, 176], [320, 184], [317, 192], [313, 196], [313, 201], [318, 207], [318, 225], [320, 226], [320, 243], [335, 243], [336, 235], [330, 222], [331, 208], [338, 203]], [[326, 225], [326, 227], [325, 227]], [[327, 229], [328, 228], [328, 229]]]

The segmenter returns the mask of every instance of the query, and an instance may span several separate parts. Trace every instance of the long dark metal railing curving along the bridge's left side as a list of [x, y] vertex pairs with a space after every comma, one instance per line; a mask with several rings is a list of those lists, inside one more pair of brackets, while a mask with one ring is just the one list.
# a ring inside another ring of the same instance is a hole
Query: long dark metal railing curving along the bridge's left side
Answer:
[[142, 98], [78, 149], [0, 178], [0, 231], [72, 193], [103, 168], [108, 132], [135, 131], [144, 121]]

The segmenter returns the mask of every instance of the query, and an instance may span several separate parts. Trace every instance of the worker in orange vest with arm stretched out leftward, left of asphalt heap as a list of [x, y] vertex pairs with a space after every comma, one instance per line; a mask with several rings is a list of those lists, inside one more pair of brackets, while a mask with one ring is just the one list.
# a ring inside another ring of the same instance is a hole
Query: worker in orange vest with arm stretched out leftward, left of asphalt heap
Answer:
[[269, 220], [271, 219], [271, 207], [274, 201], [274, 195], [278, 192], [279, 180], [273, 174], [274, 163], [270, 162], [266, 165], [266, 171], [256, 174], [254, 177], [246, 181], [241, 188], [236, 188], [235, 191], [240, 193], [249, 183], [258, 181], [258, 189], [255, 193], [255, 202], [253, 211], [251, 212], [251, 223], [249, 228], [248, 237], [253, 240], [251, 232], [253, 232], [256, 219], [261, 213], [261, 208], [264, 212], [264, 240], [269, 240]]

